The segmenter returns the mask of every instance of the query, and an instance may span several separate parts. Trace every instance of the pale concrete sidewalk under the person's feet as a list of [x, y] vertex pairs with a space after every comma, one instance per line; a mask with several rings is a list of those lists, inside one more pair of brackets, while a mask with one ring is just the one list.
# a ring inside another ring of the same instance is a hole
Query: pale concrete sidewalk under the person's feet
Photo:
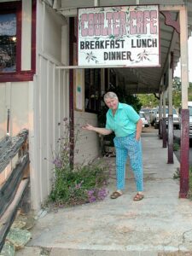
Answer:
[[[136, 194], [127, 166], [125, 194], [116, 200], [60, 209], [40, 218], [32, 230], [32, 240], [20, 255], [40, 255], [48, 248], [51, 256], [155, 256], [167, 252], [192, 255], [192, 202], [178, 199], [179, 182], [173, 179], [179, 163], [167, 165], [167, 148], [157, 132], [143, 133], [145, 197]], [[109, 193], [115, 189], [115, 158]]]

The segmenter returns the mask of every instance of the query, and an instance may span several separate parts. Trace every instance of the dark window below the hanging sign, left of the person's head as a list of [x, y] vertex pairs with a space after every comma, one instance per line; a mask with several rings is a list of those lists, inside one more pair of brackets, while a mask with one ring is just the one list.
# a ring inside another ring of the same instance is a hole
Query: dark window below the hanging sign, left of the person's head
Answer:
[[85, 111], [97, 113], [101, 100], [101, 69], [84, 69], [84, 94]]

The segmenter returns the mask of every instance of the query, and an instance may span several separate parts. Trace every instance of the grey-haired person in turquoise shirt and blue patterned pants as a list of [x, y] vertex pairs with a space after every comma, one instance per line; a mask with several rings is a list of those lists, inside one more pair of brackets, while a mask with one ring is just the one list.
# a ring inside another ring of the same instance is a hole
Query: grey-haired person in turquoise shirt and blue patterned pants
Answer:
[[108, 135], [114, 131], [113, 139], [116, 150], [116, 177], [117, 189], [111, 195], [112, 199], [118, 198], [125, 189], [125, 165], [127, 156], [130, 158], [131, 169], [134, 173], [137, 195], [134, 201], [143, 199], [143, 157], [141, 145], [142, 120], [137, 112], [125, 103], [120, 103], [118, 96], [108, 92], [104, 96], [104, 102], [108, 106], [107, 123], [105, 128], [84, 125], [84, 130], [96, 131], [102, 135]]

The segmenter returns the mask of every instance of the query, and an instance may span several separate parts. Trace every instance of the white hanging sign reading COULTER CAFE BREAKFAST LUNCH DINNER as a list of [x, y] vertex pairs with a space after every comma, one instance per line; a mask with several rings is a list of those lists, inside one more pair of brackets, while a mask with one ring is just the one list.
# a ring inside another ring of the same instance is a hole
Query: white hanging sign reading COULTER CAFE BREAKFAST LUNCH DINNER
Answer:
[[79, 9], [79, 66], [160, 66], [159, 7]]

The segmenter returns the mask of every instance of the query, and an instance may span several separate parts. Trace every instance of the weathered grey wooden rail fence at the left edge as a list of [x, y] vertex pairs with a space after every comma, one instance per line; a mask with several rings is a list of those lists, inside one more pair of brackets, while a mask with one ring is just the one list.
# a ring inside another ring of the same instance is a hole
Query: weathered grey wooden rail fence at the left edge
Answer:
[[0, 141], [0, 252], [29, 183], [28, 131]]

